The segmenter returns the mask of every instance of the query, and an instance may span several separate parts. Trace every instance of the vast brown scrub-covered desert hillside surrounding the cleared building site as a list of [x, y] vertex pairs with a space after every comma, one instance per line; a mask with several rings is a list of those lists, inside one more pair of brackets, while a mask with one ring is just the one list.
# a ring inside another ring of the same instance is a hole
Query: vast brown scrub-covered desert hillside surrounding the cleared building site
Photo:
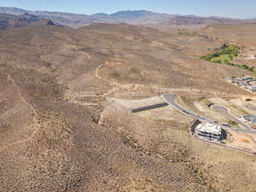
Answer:
[[187, 55], [193, 42], [125, 24], [0, 32], [0, 190], [253, 191], [253, 157], [191, 137], [172, 108], [148, 118], [125, 101], [252, 96], [223, 80], [250, 73]]

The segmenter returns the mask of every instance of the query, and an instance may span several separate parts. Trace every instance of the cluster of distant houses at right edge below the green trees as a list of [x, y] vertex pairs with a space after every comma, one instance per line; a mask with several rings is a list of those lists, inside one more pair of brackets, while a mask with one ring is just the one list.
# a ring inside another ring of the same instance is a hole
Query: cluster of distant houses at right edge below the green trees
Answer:
[[251, 84], [252, 82], [256, 82], [256, 79], [253, 79], [251, 77], [242, 77], [242, 78], [229, 77], [227, 78], [227, 80], [230, 83], [238, 84], [244, 89], [256, 92], [256, 85]]

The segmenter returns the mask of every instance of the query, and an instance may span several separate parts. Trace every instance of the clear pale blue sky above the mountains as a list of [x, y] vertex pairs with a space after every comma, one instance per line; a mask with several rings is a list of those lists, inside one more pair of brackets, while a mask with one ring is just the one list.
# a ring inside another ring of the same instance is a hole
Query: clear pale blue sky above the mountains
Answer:
[[160, 13], [202, 16], [256, 17], [256, 0], [0, 0], [0, 7], [18, 7], [78, 14], [147, 9]]

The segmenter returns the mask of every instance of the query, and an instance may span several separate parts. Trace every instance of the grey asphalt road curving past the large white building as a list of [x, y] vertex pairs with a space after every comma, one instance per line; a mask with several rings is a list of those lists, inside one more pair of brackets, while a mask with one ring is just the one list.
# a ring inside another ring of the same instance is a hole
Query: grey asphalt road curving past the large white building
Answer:
[[[162, 97], [166, 100], [166, 102], [168, 102], [172, 106], [172, 108], [177, 109], [178, 111], [188, 115], [189, 117], [204, 120], [204, 121], [207, 121], [207, 122], [210, 122], [210, 123], [212, 123], [212, 122], [218, 123], [218, 122], [216, 122], [212, 119], [208, 119], [208, 118], [206, 118], [206, 117], [204, 117], [200, 114], [194, 113], [194, 112], [190, 111], [189, 109], [183, 108], [180, 105], [178, 105], [177, 102], [176, 102], [177, 95], [165, 94]], [[226, 111], [226, 113], [227, 113], [226, 108], [222, 108], [221, 110], [223, 110], [223, 112]], [[222, 123], [218, 123], [218, 125], [221, 125], [222, 127], [226, 128], [226, 129], [230, 129], [232, 131], [240, 131], [240, 132], [245, 132], [245, 133], [256, 135], [256, 131], [252, 131], [250, 128], [249, 128], [249, 130], [243, 130], [241, 128], [236, 128], [236, 127], [233, 127], [233, 126], [230, 126], [230, 125], [224, 125]]]

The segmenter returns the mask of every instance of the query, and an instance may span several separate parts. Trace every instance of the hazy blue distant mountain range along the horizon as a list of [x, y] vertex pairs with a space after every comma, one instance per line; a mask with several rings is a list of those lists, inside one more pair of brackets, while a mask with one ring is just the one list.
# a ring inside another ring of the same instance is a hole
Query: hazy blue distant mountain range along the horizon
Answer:
[[120, 23], [125, 22], [143, 26], [191, 26], [252, 22], [252, 20], [236, 20], [221, 17], [199, 17], [195, 15], [168, 15], [159, 14], [147, 10], [126, 10], [108, 15], [99, 13], [95, 15], [79, 15], [61, 12], [30, 11], [18, 8], [0, 7], [0, 13], [9, 15], [35, 15], [40, 19], [52, 20], [63, 26], [78, 28], [90, 23]]

